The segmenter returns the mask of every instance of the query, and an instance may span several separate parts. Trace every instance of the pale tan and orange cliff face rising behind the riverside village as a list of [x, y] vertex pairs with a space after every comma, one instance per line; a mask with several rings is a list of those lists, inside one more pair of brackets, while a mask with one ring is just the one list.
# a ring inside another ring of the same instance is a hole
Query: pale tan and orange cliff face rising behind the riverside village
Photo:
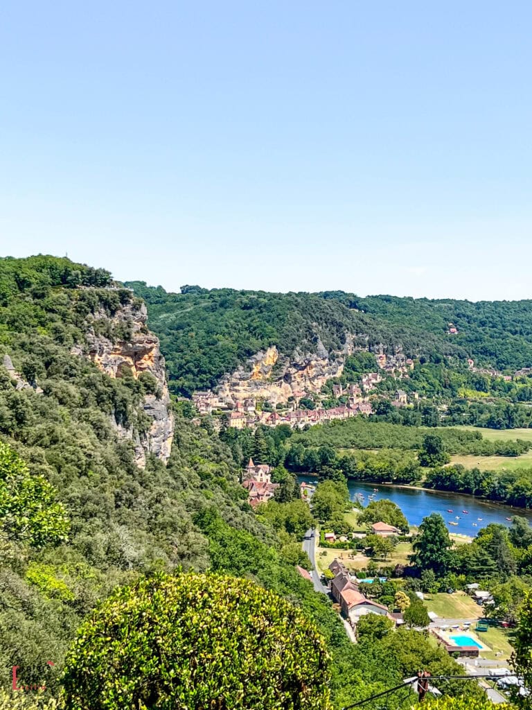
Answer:
[[279, 355], [274, 345], [253, 356], [247, 367], [224, 377], [217, 388], [218, 395], [227, 401], [262, 398], [277, 405], [286, 403], [289, 397], [319, 392], [326, 381], [343, 373], [345, 355], [352, 351], [351, 342], [348, 339], [345, 351], [334, 355], [318, 342], [316, 353], [296, 352], [291, 358]]

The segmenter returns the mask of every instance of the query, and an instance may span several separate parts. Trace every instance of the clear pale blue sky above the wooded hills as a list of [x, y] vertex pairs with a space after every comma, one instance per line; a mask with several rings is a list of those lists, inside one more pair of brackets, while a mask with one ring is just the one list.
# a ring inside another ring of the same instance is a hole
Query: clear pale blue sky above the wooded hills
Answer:
[[0, 252], [532, 297], [532, 4], [4, 0]]

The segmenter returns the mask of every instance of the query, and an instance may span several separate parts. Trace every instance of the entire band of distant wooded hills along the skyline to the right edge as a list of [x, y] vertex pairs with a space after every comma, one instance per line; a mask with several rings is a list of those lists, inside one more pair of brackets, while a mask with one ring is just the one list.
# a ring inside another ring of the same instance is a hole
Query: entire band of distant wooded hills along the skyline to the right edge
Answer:
[[[472, 358], [480, 366], [532, 366], [530, 301], [469, 302], [371, 296], [342, 291], [266, 293], [184, 286], [182, 293], [126, 283], [148, 304], [150, 327], [167, 358], [170, 387], [190, 395], [212, 388], [260, 349], [339, 351], [354, 344], [438, 362]], [[450, 324], [458, 332], [449, 333]]]

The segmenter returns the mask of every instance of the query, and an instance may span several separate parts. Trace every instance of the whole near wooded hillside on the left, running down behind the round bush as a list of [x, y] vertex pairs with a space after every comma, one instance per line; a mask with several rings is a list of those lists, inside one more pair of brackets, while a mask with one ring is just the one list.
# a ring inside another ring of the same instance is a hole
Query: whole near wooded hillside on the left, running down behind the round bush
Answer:
[[[135, 464], [118, 424], [145, 425], [140, 403], [153, 383], [111, 378], [83, 356], [94, 315], [115, 322], [133, 298], [106, 271], [67, 259], [0, 260], [1, 684], [11, 687], [18, 666], [20, 682], [56, 694], [94, 605], [140, 574], [177, 569], [249, 577], [299, 606], [333, 657], [336, 706], [394, 686], [414, 666], [455, 673], [414, 631], [375, 640], [371, 653], [350, 643], [330, 601], [296, 571], [301, 533], [253, 513], [209, 422], [177, 415], [167, 465], [153, 456], [145, 469]], [[106, 337], [123, 345], [131, 329], [124, 322]], [[296, 504], [308, 525], [306, 504]]]

